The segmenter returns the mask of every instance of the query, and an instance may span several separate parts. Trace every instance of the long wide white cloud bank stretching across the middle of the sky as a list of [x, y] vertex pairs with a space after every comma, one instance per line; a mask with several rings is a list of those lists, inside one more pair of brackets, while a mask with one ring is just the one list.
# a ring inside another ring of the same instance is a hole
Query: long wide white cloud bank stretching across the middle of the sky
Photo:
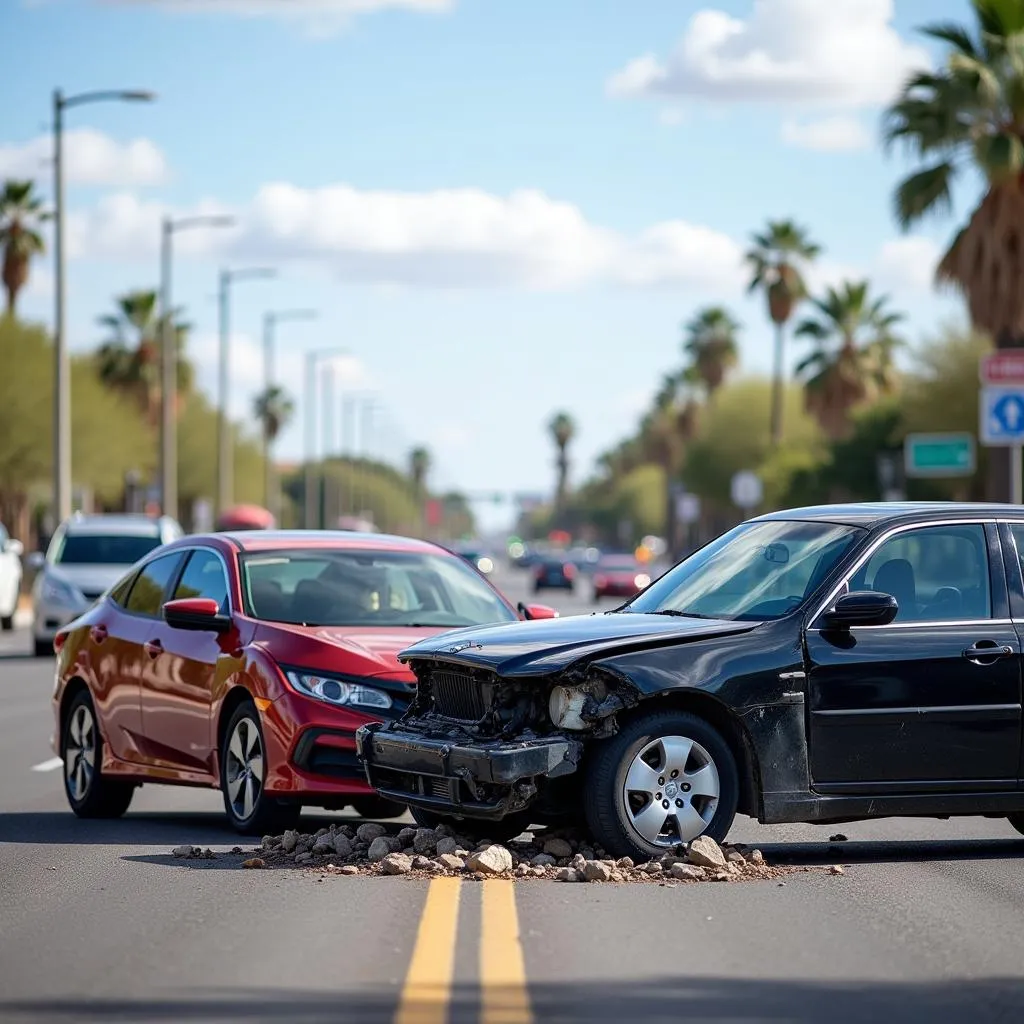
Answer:
[[[152, 259], [165, 210], [116, 194], [69, 218], [78, 257]], [[225, 212], [213, 201], [175, 215]], [[741, 288], [741, 249], [682, 220], [624, 234], [536, 190], [426, 193], [268, 184], [229, 230], [189, 230], [175, 252], [318, 266], [344, 281], [433, 289], [565, 290], [587, 285]]]

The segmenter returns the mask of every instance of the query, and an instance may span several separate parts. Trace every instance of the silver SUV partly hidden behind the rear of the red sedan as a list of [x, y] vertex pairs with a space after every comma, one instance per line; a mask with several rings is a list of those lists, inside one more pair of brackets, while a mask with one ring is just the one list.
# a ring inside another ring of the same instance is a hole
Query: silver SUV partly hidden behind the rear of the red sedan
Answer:
[[32, 587], [36, 656], [52, 655], [57, 630], [102, 597], [128, 566], [181, 535], [167, 516], [76, 514], [65, 520], [46, 554], [29, 559], [39, 570]]

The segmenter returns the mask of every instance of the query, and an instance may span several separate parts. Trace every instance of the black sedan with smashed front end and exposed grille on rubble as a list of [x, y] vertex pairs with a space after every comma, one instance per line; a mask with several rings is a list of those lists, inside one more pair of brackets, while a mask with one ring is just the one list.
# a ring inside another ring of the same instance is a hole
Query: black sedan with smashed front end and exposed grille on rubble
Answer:
[[1022, 555], [1019, 506], [762, 516], [623, 609], [414, 645], [416, 698], [360, 756], [418, 820], [496, 838], [582, 807], [615, 856], [722, 840], [737, 811], [1024, 831]]

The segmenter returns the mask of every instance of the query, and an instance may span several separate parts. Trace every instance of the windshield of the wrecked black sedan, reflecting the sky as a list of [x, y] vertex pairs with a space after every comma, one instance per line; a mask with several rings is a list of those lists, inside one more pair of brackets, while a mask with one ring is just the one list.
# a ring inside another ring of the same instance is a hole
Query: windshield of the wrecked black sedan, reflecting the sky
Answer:
[[762, 622], [796, 610], [863, 530], [768, 520], [723, 534], [664, 575], [624, 611]]

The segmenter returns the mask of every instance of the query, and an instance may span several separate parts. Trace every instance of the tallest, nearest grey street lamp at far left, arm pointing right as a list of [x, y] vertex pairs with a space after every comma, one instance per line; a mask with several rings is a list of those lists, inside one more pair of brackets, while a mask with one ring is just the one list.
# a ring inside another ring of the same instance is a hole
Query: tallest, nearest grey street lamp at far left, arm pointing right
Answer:
[[53, 515], [54, 526], [71, 515], [71, 370], [65, 336], [65, 244], [63, 244], [63, 112], [83, 103], [109, 100], [150, 102], [156, 94], [142, 89], [102, 89], [66, 96], [53, 92]]

